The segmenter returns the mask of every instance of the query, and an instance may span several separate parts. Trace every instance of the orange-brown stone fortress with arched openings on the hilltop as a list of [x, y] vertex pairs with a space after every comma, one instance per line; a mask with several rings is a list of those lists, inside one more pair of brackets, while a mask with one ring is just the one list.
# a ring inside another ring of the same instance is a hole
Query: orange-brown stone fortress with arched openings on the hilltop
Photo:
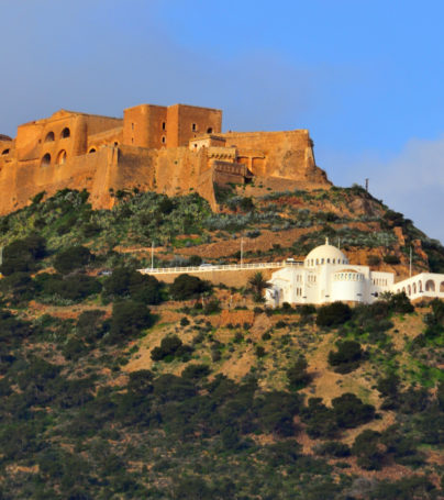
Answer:
[[198, 192], [217, 208], [214, 184], [254, 177], [301, 188], [330, 182], [314, 163], [307, 130], [222, 133], [222, 111], [141, 104], [123, 119], [60, 110], [0, 134], [0, 214], [45, 191], [87, 189], [93, 208], [137, 188], [169, 196]]

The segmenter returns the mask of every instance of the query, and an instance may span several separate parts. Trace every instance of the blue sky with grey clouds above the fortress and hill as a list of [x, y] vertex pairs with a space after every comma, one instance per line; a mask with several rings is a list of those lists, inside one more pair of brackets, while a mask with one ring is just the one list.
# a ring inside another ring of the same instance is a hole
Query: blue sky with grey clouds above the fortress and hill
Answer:
[[428, 0], [2, 0], [0, 133], [141, 102], [309, 129], [335, 184], [368, 177], [444, 242], [443, 19]]

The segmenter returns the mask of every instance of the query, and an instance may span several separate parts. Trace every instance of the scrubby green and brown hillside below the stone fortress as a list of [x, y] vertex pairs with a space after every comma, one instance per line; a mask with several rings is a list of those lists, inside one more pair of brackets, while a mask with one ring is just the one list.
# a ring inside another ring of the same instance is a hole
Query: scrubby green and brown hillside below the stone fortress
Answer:
[[[287, 185], [288, 187], [288, 185]], [[443, 498], [444, 303], [268, 310], [151, 265], [280, 260], [325, 236], [406, 276], [444, 248], [360, 187], [44, 195], [0, 219], [1, 499]], [[43, 201], [44, 200], [44, 201]], [[256, 290], [257, 291], [257, 290]], [[256, 293], [257, 296], [257, 293]]]

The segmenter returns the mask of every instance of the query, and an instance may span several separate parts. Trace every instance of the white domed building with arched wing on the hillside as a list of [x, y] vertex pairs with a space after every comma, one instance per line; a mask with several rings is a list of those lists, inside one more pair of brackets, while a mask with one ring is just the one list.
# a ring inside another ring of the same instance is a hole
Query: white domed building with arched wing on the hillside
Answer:
[[410, 299], [444, 299], [444, 275], [421, 273], [396, 284], [392, 273], [351, 265], [329, 240], [312, 249], [303, 263], [274, 273], [269, 284], [265, 297], [271, 307], [284, 302], [321, 304], [336, 300], [369, 303], [385, 291], [404, 291]]

